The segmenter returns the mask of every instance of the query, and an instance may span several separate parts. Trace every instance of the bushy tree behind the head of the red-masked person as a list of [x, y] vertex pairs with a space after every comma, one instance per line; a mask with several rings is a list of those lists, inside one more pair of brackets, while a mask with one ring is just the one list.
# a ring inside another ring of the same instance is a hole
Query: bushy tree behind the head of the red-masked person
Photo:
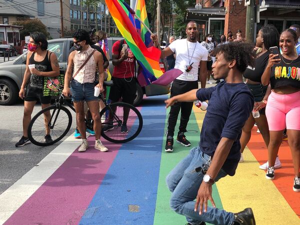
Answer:
[[30, 33], [38, 31], [45, 34], [46, 37], [49, 36], [47, 32], [47, 27], [37, 18], [35, 19], [24, 19], [18, 20], [13, 23], [13, 25], [23, 26], [23, 29], [20, 30], [20, 38], [21, 40], [25, 39], [25, 36], [30, 35]]

